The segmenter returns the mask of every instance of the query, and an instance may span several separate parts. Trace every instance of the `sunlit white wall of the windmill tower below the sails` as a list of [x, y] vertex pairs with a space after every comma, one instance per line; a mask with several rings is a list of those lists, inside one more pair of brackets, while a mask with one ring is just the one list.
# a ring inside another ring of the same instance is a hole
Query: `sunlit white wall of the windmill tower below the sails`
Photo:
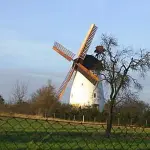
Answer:
[[[96, 97], [94, 97], [94, 93]], [[74, 78], [71, 93], [70, 104], [72, 105], [92, 105], [99, 104], [100, 91], [86, 77], [77, 71]]]

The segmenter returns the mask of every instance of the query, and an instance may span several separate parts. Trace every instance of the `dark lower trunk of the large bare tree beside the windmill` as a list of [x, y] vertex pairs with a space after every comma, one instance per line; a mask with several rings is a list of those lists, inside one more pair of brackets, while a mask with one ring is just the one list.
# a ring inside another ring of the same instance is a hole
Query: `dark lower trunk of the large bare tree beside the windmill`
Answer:
[[112, 129], [112, 121], [113, 121], [113, 106], [110, 106], [109, 116], [107, 120], [107, 128], [106, 128], [106, 137], [110, 137], [111, 129]]

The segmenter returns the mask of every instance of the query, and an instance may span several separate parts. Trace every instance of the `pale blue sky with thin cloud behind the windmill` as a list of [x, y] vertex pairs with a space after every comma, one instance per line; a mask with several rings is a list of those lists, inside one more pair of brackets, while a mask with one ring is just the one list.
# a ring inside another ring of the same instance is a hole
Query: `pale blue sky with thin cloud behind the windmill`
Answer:
[[[122, 46], [149, 50], [149, 6], [149, 0], [0, 0], [0, 94], [9, 100], [17, 80], [28, 83], [29, 95], [49, 79], [58, 88], [71, 63], [52, 50], [54, 41], [76, 54], [92, 23], [98, 31], [89, 53], [102, 33]], [[149, 77], [139, 78], [146, 102]]]

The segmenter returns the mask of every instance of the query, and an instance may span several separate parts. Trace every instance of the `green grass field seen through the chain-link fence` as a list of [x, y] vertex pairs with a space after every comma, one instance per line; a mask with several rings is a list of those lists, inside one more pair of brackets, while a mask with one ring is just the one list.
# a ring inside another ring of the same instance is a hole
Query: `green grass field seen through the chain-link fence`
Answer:
[[150, 129], [0, 117], [0, 150], [150, 150]]

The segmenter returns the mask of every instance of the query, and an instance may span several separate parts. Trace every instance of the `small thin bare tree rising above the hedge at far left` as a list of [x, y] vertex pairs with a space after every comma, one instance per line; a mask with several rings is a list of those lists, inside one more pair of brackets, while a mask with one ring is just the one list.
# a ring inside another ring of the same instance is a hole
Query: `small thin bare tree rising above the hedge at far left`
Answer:
[[27, 96], [27, 84], [24, 82], [16, 81], [16, 84], [13, 89], [12, 99], [17, 103], [22, 103], [25, 101]]

